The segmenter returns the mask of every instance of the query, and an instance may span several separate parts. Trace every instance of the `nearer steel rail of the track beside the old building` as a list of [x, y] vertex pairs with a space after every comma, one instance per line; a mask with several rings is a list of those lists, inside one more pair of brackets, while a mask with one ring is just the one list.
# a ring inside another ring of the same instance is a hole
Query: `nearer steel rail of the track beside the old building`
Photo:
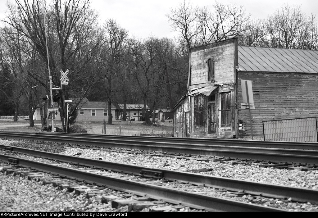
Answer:
[[[0, 136], [8, 138], [29, 139], [29, 140], [43, 140], [53, 141], [80, 145], [93, 145], [104, 147], [120, 147], [125, 149], [137, 149], [137, 150], [151, 150], [159, 152], [169, 153], [187, 153], [197, 155], [211, 155], [220, 157], [231, 157], [240, 159], [252, 159], [252, 160], [270, 160], [273, 162], [288, 162], [288, 163], [306, 163], [306, 164], [318, 164], [318, 151], [308, 150], [295, 150], [295, 149], [268, 149], [268, 148], [250, 148], [250, 147], [228, 147], [219, 146], [219, 149], [206, 149], [206, 146], [195, 146], [195, 148], [188, 147], [175, 147], [165, 146], [164, 143], [160, 146], [151, 145], [135, 145], [130, 143], [116, 143], [116, 142], [104, 142], [97, 139], [79, 139], [71, 136], [59, 136], [52, 135], [38, 135], [38, 134], [26, 134], [26, 133], [0, 133]], [[145, 143], [146, 144], [146, 143]], [[236, 150], [235, 150], [236, 149]], [[305, 153], [304, 155], [302, 153]], [[311, 154], [311, 155], [308, 155]], [[315, 155], [316, 154], [316, 155]]]

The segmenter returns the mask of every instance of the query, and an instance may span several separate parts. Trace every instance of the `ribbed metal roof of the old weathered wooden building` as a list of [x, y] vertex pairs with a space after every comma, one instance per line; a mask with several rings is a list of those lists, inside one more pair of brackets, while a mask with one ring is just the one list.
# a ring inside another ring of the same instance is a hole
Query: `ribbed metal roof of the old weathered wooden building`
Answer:
[[239, 71], [318, 73], [318, 51], [238, 46]]

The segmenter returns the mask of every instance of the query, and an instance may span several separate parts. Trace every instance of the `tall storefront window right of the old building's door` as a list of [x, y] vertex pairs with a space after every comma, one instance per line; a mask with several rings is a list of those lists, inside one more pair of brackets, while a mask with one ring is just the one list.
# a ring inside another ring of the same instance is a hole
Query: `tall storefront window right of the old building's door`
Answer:
[[231, 93], [220, 93], [221, 105], [221, 127], [231, 127], [232, 109], [231, 109]]

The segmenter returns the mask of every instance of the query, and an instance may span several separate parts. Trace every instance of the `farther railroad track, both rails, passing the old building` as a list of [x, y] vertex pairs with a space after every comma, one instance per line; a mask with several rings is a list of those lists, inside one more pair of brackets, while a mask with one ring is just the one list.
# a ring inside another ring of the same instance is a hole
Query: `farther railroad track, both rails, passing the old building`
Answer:
[[0, 137], [318, 165], [318, 144], [309, 142], [182, 139], [42, 132], [0, 132]]

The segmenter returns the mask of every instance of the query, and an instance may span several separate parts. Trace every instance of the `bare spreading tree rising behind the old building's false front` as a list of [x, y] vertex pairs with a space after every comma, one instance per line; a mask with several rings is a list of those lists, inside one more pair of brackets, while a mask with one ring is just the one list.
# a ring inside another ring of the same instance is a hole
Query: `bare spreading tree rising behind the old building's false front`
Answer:
[[172, 29], [179, 32], [179, 41], [182, 44], [184, 39], [188, 49], [237, 37], [248, 29], [250, 20], [243, 6], [218, 2], [210, 10], [207, 7], [193, 9], [189, 2], [183, 1], [166, 16]]

